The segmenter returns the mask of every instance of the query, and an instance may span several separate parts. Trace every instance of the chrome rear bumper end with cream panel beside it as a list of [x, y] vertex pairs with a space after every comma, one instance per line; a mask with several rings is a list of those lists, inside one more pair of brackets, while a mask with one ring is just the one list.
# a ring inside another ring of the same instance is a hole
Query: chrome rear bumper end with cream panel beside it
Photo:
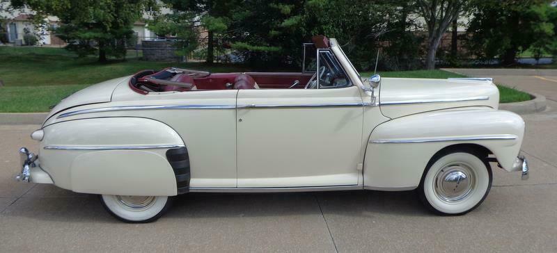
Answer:
[[22, 171], [15, 176], [15, 181], [23, 183], [54, 183], [49, 174], [38, 165], [38, 156], [29, 152], [25, 147], [19, 149], [19, 156], [21, 156]]

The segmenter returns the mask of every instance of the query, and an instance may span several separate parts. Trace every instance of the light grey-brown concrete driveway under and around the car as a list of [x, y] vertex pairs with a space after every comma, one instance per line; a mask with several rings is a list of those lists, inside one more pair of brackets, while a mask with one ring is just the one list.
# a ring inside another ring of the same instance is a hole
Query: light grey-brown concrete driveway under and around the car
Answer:
[[[527, 80], [524, 90], [557, 95], [557, 83]], [[428, 213], [414, 192], [187, 194], [157, 222], [129, 225], [93, 195], [14, 182], [17, 149], [37, 148], [38, 126], [0, 126], [0, 252], [557, 252], [557, 102], [548, 106], [524, 115], [530, 179], [493, 166], [485, 202], [457, 217]]]

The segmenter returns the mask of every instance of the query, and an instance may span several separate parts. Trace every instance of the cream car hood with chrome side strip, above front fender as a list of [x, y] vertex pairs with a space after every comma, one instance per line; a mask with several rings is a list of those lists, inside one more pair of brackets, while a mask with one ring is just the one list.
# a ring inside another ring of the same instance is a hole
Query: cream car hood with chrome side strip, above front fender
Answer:
[[468, 106], [499, 107], [499, 90], [489, 79], [384, 78], [379, 106], [386, 117]]

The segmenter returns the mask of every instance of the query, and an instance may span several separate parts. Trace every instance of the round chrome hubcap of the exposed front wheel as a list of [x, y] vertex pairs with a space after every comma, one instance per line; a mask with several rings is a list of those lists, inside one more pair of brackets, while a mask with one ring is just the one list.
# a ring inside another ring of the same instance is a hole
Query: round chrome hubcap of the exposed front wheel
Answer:
[[446, 202], [457, 202], [470, 195], [475, 183], [473, 170], [463, 163], [446, 165], [437, 172], [435, 194]]

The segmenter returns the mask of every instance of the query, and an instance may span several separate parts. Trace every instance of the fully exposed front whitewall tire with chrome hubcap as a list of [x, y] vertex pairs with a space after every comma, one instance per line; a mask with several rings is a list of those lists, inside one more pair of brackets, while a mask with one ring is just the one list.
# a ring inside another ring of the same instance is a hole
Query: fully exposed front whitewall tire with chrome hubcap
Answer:
[[476, 209], [492, 186], [487, 157], [473, 151], [455, 150], [432, 158], [418, 193], [435, 213], [462, 215]]

